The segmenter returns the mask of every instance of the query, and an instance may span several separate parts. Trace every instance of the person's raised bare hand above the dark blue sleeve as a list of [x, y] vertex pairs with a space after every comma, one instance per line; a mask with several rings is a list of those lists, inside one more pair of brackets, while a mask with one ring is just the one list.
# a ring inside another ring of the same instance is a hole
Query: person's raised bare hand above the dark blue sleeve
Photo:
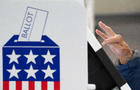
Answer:
[[109, 26], [103, 22], [99, 22], [98, 25], [105, 33], [96, 29], [96, 33], [103, 38], [102, 45], [109, 46], [111, 51], [119, 58], [121, 64], [126, 64], [132, 57], [132, 51], [128, 44], [123, 40], [120, 34], [116, 34]]

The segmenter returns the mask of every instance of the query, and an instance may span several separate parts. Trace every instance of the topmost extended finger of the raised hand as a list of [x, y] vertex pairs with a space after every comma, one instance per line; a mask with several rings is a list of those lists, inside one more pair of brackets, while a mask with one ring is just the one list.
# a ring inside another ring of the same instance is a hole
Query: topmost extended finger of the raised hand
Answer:
[[98, 25], [106, 32], [107, 35], [109, 35], [109, 36], [114, 36], [115, 35], [113, 30], [109, 26], [105, 25], [102, 21], [100, 21], [98, 23]]

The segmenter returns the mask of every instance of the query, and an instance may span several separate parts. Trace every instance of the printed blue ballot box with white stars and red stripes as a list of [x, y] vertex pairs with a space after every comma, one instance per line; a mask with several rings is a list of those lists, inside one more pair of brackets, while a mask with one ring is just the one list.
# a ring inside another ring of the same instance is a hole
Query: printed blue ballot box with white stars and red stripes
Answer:
[[3, 47], [3, 90], [60, 90], [59, 46], [47, 36], [41, 42], [17, 42]]

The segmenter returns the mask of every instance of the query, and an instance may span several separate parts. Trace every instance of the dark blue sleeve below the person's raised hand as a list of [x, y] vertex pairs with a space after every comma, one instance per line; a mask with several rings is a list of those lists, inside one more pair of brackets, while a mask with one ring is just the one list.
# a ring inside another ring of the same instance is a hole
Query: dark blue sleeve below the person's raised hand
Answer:
[[140, 90], [140, 55], [138, 51], [134, 51], [133, 57], [127, 64], [119, 65], [117, 68], [132, 90]]

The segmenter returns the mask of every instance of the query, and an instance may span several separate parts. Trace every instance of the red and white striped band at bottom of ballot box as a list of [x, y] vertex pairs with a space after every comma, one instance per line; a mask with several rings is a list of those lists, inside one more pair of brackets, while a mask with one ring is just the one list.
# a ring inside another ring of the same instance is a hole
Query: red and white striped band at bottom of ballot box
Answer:
[[60, 90], [60, 82], [3, 81], [3, 90]]

